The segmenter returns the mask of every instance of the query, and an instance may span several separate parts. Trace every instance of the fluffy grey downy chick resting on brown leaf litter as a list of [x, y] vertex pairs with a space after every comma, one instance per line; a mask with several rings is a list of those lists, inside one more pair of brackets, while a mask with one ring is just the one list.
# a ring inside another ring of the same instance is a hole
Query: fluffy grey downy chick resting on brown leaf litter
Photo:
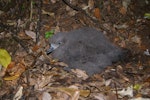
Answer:
[[48, 54], [88, 75], [100, 73], [122, 55], [122, 50], [108, 41], [102, 32], [88, 27], [59, 32], [50, 38], [50, 43]]

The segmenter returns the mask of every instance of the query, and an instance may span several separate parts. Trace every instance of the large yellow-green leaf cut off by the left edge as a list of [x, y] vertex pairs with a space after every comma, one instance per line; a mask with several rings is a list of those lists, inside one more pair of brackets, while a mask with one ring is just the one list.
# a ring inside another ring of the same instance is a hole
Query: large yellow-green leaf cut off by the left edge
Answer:
[[0, 49], [0, 64], [7, 68], [11, 62], [11, 57], [5, 49]]

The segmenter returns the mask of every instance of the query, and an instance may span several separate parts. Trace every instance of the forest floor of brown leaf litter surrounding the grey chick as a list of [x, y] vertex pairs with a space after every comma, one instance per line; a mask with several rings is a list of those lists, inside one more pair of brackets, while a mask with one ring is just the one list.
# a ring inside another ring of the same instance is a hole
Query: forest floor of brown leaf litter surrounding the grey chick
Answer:
[[[12, 59], [0, 68], [0, 100], [150, 99], [148, 0], [41, 1], [0, 1], [0, 49]], [[84, 26], [127, 49], [126, 59], [89, 77], [80, 70], [64, 71], [65, 63], [45, 54], [45, 33]]]

